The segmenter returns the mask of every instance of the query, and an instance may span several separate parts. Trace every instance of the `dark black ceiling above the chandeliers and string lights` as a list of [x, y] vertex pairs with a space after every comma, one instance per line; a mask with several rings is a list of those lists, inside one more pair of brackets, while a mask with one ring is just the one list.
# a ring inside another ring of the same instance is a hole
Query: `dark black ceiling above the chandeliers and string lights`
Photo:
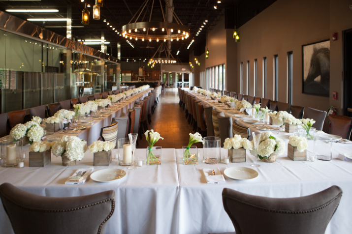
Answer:
[[[0, 10], [5, 9], [16, 9], [16, 8], [55, 8], [58, 9], [58, 13], [9, 13], [21, 19], [27, 20], [28, 18], [66, 18], [67, 17], [67, 6], [70, 5], [72, 9], [72, 36], [75, 39], [99, 39], [101, 36], [101, 31], [104, 30], [105, 39], [110, 42], [107, 48], [107, 53], [117, 57], [117, 43], [121, 43], [121, 59], [143, 59], [150, 58], [161, 41], [149, 42], [145, 40], [135, 41], [132, 40], [131, 43], [134, 45], [132, 48], [126, 41], [126, 38], [119, 36], [115, 30], [117, 29], [121, 32], [123, 25], [128, 24], [132, 19], [133, 15], [137, 12], [139, 7], [143, 4], [145, 0], [104, 0], [103, 7], [101, 7], [100, 20], [93, 20], [92, 11], [94, 0], [41, 0], [41, 1], [0, 1]], [[153, 0], [149, 0], [145, 11], [146, 19], [149, 18], [150, 10], [152, 8]], [[238, 20], [243, 24], [243, 21], [247, 22], [253, 18], [257, 13], [259, 13], [261, 8], [265, 8], [270, 5], [275, 0], [222, 0], [221, 3], [217, 3], [218, 0], [173, 0], [174, 11], [183, 23], [187, 25], [190, 29], [190, 37], [185, 40], [174, 40], [171, 43], [171, 54], [176, 58], [177, 51], [180, 51], [178, 58], [182, 62], [189, 61], [189, 53], [194, 49], [194, 47], [203, 47], [205, 45], [205, 35], [206, 32], [211, 30], [220, 20], [221, 15], [226, 12], [226, 28], [232, 27], [231, 22], [234, 22], [234, 15], [236, 13], [236, 7], [238, 6], [238, 12], [241, 12], [239, 16], [241, 20]], [[161, 7], [165, 12], [165, 1], [164, 0], [154, 0], [152, 21], [162, 21]], [[253, 4], [251, 4], [251, 2]], [[75, 26], [83, 26], [81, 24], [81, 14], [84, 9], [84, 4], [90, 4], [90, 24], [85, 25], [83, 28], [76, 28]], [[217, 9], [214, 9], [214, 5], [217, 5]], [[241, 9], [241, 5], [243, 8]], [[264, 9], [265, 9], [264, 8]], [[225, 10], [226, 9], [226, 10]], [[255, 13], [254, 13], [255, 12]], [[104, 22], [106, 20], [106, 23]], [[208, 20], [203, 30], [198, 36], [196, 32], [203, 25], [203, 22]], [[146, 21], [146, 20], [144, 20]], [[112, 30], [107, 25], [112, 25], [115, 30]], [[66, 35], [65, 22], [32, 22], [40, 27], [44, 27], [48, 30], [54, 31], [61, 35]], [[175, 20], [174, 20], [175, 23]], [[51, 28], [51, 27], [64, 26], [62, 28]], [[194, 43], [187, 49], [190, 42], [194, 39]], [[90, 45], [97, 50], [100, 50], [100, 45]]]

